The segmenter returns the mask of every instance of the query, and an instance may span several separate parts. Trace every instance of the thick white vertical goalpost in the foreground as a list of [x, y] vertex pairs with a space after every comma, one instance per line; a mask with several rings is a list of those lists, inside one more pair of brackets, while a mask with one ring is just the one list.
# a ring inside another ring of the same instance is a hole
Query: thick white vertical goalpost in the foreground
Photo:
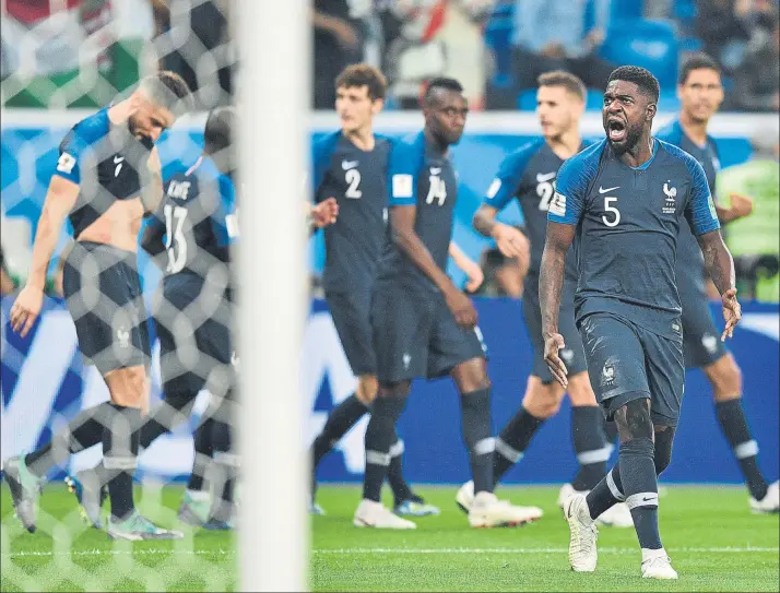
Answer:
[[306, 316], [302, 179], [309, 3], [238, 3], [241, 591], [308, 586], [299, 359]]

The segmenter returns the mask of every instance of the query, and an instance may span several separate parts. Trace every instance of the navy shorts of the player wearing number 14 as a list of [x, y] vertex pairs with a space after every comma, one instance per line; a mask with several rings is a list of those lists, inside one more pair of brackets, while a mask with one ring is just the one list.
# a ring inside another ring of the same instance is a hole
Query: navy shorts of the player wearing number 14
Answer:
[[374, 293], [371, 327], [381, 383], [444, 377], [487, 352], [480, 329], [461, 329], [440, 295], [403, 286]]

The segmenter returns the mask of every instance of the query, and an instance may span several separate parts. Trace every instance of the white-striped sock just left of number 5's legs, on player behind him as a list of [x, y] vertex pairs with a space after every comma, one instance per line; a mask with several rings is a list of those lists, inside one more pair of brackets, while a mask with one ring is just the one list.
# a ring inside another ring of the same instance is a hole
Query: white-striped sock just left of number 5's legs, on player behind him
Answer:
[[603, 423], [604, 413], [598, 405], [571, 408], [571, 441], [579, 463], [577, 475], [571, 481], [575, 490], [592, 490], [606, 474], [612, 447], [604, 441]]

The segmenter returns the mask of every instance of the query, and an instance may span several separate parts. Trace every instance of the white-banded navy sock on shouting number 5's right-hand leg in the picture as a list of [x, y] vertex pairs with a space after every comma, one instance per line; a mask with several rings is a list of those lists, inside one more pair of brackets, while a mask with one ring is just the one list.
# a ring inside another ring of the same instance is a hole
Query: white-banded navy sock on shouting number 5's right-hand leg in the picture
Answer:
[[631, 511], [634, 529], [643, 550], [663, 547], [658, 531], [658, 478], [653, 453], [652, 440], [634, 438], [621, 443], [617, 461], [626, 506]]

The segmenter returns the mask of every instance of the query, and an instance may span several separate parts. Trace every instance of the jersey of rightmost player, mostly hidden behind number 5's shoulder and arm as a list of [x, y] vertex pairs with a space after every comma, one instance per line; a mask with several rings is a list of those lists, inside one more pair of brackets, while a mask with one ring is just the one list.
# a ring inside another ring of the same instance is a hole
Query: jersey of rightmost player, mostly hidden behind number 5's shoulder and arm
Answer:
[[[718, 177], [718, 170], [720, 170], [720, 159], [718, 158], [718, 145], [714, 139], [708, 135], [705, 145], [699, 146], [688, 138], [678, 119], [664, 126], [655, 137], [683, 149], [699, 162], [707, 175], [710, 193], [713, 199], [717, 199], [716, 178]], [[705, 260], [699, 244], [696, 241], [696, 237], [694, 237], [688, 225], [681, 225], [679, 227], [677, 277], [681, 285], [693, 283], [699, 292], [705, 290]]]

